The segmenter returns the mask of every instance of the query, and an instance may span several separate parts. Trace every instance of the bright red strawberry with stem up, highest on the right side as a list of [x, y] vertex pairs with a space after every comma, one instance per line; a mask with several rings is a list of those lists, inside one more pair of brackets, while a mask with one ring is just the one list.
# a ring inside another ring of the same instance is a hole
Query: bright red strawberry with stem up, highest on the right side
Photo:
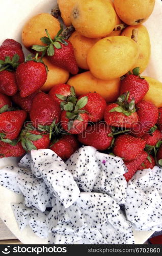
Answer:
[[133, 69], [133, 74], [127, 75], [121, 82], [120, 94], [129, 92], [128, 102], [134, 99], [140, 102], [149, 90], [149, 83], [139, 75], [139, 68]]

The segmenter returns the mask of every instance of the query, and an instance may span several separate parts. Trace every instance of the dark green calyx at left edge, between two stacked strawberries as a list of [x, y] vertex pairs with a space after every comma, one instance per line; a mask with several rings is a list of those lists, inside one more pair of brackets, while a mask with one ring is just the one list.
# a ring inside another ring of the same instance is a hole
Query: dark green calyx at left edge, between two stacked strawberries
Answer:
[[12, 59], [9, 56], [5, 57], [5, 60], [0, 60], [0, 72], [4, 70], [15, 71], [19, 66], [19, 56], [15, 54]]

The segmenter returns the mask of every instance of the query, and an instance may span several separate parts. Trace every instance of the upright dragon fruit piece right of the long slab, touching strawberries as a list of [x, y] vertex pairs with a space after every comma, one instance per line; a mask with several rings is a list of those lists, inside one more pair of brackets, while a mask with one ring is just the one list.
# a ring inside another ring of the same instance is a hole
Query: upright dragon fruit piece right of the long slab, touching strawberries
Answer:
[[92, 191], [101, 168], [95, 155], [96, 148], [82, 146], [66, 161], [77, 185], [86, 192]]

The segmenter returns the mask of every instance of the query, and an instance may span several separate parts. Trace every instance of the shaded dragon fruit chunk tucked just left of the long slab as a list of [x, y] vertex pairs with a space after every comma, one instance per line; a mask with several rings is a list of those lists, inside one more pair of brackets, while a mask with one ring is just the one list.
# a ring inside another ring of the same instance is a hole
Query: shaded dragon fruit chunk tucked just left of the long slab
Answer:
[[44, 212], [51, 200], [51, 194], [44, 181], [35, 178], [32, 173], [19, 174], [16, 181], [25, 199]]

